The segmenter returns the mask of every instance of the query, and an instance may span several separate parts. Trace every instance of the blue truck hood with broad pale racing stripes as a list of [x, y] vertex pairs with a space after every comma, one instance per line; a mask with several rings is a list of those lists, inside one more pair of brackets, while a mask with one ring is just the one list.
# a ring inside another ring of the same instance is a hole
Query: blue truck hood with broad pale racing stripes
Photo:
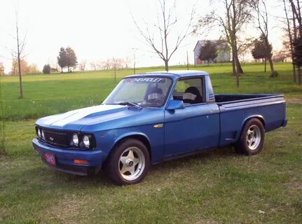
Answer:
[[158, 109], [102, 104], [40, 118], [36, 121], [36, 125], [55, 130], [81, 131], [84, 128], [86, 132], [93, 132], [163, 120], [163, 116], [159, 116], [158, 111]]

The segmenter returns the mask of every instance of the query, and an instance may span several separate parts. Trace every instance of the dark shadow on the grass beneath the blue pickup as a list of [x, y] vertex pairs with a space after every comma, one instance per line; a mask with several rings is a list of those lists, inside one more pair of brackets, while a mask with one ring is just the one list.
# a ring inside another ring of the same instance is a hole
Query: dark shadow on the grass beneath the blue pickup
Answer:
[[[149, 169], [149, 174], [147, 176], [165, 175], [166, 172], [170, 172], [173, 169], [178, 169], [184, 166], [190, 169], [190, 167], [193, 167], [196, 164], [198, 164], [198, 166], [203, 166], [203, 163], [212, 162], [217, 158], [234, 158], [236, 156], [242, 155], [236, 154], [231, 146], [224, 148], [213, 148], [207, 151], [200, 151], [194, 155], [178, 158], [175, 160], [160, 162], [157, 165], [151, 165]], [[107, 179], [104, 170], [101, 170], [98, 174], [92, 174], [90, 176], [77, 176], [73, 174], [57, 172], [54, 169], [51, 169], [50, 167], [41, 165], [39, 167], [25, 169], [19, 174], [20, 177], [28, 176], [29, 179], [36, 179], [32, 183], [44, 183], [44, 188], [53, 188], [54, 186], [55, 188], [59, 186], [59, 188], [102, 188], [107, 186], [114, 186]], [[16, 178], [18, 177], [16, 176]]]

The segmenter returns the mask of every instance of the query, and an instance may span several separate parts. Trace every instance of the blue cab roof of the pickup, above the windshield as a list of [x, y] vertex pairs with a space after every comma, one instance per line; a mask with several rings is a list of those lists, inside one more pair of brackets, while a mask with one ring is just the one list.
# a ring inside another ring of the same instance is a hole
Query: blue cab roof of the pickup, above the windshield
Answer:
[[[195, 71], [195, 70], [172, 70], [172, 71], [152, 71], [146, 73], [138, 73], [132, 76], [150, 76], [153, 74], [167, 75], [170, 77], [188, 77], [188, 76], [209, 76], [206, 71]], [[131, 76], [128, 76], [131, 77]]]

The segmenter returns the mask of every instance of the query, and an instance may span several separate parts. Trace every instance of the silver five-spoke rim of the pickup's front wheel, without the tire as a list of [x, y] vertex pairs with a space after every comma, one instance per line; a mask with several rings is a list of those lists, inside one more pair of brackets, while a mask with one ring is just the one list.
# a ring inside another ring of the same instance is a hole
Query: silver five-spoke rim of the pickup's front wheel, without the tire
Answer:
[[127, 181], [133, 181], [144, 172], [146, 161], [144, 153], [140, 148], [126, 148], [118, 160], [118, 170]]

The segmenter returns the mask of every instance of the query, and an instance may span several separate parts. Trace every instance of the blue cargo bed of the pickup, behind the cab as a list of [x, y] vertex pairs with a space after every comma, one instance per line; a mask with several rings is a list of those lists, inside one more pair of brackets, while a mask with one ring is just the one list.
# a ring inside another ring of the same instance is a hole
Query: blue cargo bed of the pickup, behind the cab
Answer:
[[220, 111], [221, 146], [237, 141], [249, 118], [259, 118], [266, 132], [286, 125], [282, 94], [215, 94], [215, 100]]

